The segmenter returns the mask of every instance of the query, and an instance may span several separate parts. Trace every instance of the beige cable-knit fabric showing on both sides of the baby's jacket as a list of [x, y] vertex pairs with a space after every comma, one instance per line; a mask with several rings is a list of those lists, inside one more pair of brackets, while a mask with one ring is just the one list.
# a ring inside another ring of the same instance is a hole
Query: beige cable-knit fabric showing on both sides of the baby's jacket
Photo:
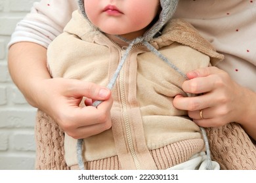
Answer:
[[[254, 170], [256, 169], [256, 147], [237, 123], [223, 127], [207, 128], [211, 158], [221, 165], [221, 169]], [[37, 159], [35, 169], [66, 170], [69, 167], [64, 159], [64, 131], [50, 116], [37, 112], [35, 125], [37, 141]], [[46, 145], [47, 144], [47, 145]], [[88, 169], [100, 169], [95, 162], [87, 162]], [[120, 165], [113, 165], [120, 169]]]

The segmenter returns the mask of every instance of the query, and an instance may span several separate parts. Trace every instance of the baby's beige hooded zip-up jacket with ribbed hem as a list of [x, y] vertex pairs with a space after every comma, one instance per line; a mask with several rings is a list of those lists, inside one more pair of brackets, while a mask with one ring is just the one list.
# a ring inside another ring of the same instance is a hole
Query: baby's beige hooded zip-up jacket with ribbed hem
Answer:
[[[182, 73], [223, 59], [182, 20], [169, 22], [150, 44]], [[48, 50], [53, 77], [106, 86], [125, 49], [75, 11]], [[200, 128], [172, 104], [175, 95], [187, 95], [181, 89], [185, 79], [143, 44], [133, 46], [112, 90], [112, 128], [84, 139], [85, 161], [98, 164], [96, 169], [167, 169], [204, 151]], [[77, 168], [76, 141], [65, 135], [66, 163], [72, 169]]]

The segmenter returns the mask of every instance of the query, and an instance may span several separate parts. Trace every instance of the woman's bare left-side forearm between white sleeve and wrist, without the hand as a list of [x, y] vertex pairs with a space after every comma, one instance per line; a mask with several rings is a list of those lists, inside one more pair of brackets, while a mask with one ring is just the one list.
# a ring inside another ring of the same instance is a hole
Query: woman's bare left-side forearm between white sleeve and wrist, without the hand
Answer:
[[9, 48], [11, 78], [33, 107], [37, 105], [40, 80], [51, 78], [47, 69], [47, 49], [32, 42], [18, 42]]

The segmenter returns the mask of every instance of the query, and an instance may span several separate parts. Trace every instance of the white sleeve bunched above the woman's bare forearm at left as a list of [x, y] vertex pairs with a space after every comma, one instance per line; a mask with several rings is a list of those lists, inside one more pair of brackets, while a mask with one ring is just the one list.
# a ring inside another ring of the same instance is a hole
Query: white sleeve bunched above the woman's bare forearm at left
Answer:
[[47, 48], [50, 42], [62, 33], [75, 9], [75, 0], [41, 0], [33, 3], [30, 13], [16, 24], [8, 46], [28, 41]]

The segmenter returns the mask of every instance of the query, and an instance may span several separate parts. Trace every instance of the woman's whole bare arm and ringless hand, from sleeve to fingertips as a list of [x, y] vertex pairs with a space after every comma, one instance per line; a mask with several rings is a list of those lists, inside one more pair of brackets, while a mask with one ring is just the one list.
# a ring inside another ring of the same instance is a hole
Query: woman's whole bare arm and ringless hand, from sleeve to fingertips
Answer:
[[[18, 42], [9, 49], [9, 73], [28, 103], [49, 114], [75, 139], [109, 129], [113, 103], [110, 91], [80, 80], [51, 78], [46, 60], [47, 49], [39, 44]], [[97, 108], [79, 107], [84, 96], [103, 102]]]

